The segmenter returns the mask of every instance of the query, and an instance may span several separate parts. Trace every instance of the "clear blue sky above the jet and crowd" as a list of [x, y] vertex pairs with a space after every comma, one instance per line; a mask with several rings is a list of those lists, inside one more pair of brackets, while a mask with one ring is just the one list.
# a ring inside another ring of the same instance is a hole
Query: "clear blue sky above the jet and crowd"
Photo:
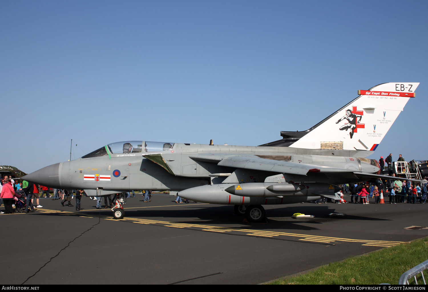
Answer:
[[428, 159], [425, 1], [1, 1], [0, 164], [107, 143], [257, 146], [421, 82], [371, 158]]

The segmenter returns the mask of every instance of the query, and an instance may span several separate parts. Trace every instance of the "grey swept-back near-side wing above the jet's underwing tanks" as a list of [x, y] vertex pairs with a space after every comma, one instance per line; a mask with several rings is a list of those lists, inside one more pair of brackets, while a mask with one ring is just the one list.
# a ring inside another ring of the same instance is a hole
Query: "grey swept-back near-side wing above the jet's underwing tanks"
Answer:
[[294, 163], [259, 157], [231, 156], [223, 158], [217, 165], [234, 168], [264, 170], [276, 173], [289, 173], [294, 175], [307, 175], [308, 172], [342, 173], [355, 172], [355, 169], [343, 169], [329, 166]]

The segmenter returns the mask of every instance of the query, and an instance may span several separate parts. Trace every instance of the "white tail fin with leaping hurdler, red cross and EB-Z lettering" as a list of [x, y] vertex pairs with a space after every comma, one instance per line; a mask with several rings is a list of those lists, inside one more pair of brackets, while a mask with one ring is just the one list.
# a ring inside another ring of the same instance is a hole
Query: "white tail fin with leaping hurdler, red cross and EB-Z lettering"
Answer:
[[375, 150], [419, 82], [383, 83], [336, 111], [290, 145], [306, 149]]

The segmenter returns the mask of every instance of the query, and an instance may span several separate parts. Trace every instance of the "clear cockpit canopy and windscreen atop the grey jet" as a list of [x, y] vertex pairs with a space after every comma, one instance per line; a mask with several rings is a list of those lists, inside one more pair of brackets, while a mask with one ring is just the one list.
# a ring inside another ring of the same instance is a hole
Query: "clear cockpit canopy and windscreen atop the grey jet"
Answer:
[[[141, 152], [163, 152], [172, 150], [175, 143], [150, 142], [150, 141], [122, 141], [110, 143], [97, 149], [82, 158], [94, 158], [108, 154], [141, 153]], [[144, 147], [143, 147], [144, 146]], [[108, 152], [107, 152], [108, 151]]]

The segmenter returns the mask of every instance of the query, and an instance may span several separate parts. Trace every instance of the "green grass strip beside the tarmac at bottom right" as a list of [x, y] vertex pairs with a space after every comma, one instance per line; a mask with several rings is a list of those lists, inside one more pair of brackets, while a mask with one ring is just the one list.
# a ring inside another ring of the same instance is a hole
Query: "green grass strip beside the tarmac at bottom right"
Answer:
[[[401, 274], [425, 260], [428, 260], [428, 238], [330, 263], [312, 272], [268, 284], [398, 284]], [[424, 277], [428, 279], [426, 270]], [[423, 284], [420, 274], [417, 280]], [[409, 280], [409, 283], [412, 284], [413, 280]]]

